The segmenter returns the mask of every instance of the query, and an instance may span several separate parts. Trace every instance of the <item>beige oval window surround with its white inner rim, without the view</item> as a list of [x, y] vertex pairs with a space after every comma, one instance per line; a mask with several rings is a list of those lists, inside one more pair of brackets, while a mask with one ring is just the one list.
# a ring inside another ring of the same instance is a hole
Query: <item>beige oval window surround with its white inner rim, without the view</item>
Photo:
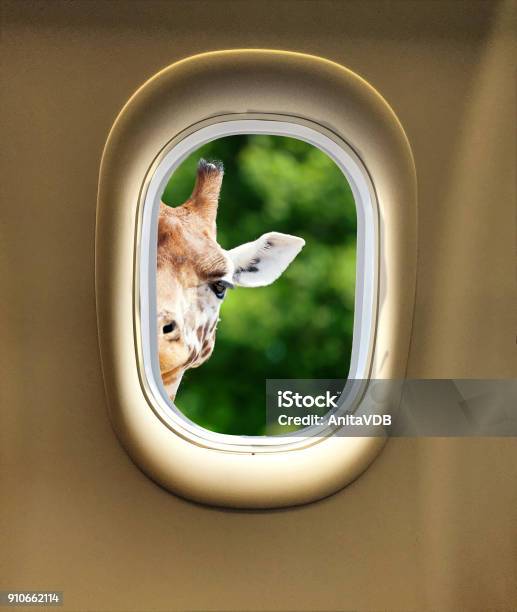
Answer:
[[[305, 140], [347, 176], [358, 221], [353, 379], [398, 379], [406, 371], [415, 171], [398, 120], [371, 86], [327, 60], [280, 51], [223, 51], [179, 62], [133, 96], [110, 133], [99, 182], [96, 295], [115, 431], [137, 465], [180, 495], [224, 506], [288, 506], [356, 478], [384, 437], [210, 432], [171, 408], [155, 357], [159, 196], [190, 152], [238, 133]], [[363, 387], [352, 385], [347, 409], [368, 411]], [[382, 401], [392, 407], [396, 400]]]

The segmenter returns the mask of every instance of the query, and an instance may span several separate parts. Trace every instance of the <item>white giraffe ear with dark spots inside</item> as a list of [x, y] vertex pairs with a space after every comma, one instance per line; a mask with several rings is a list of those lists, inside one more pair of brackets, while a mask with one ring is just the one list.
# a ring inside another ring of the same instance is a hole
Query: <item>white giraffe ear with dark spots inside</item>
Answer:
[[303, 238], [269, 232], [254, 242], [228, 251], [235, 265], [233, 283], [241, 287], [263, 287], [274, 282], [305, 244]]

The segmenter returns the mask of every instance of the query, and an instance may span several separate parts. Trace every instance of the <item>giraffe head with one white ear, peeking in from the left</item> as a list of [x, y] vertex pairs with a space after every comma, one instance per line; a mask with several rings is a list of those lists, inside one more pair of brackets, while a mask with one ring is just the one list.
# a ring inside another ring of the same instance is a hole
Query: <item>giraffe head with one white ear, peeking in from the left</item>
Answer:
[[216, 216], [223, 166], [200, 160], [190, 198], [160, 204], [157, 257], [157, 333], [162, 380], [174, 399], [185, 370], [212, 354], [226, 290], [276, 280], [305, 244], [270, 232], [225, 251], [217, 243]]

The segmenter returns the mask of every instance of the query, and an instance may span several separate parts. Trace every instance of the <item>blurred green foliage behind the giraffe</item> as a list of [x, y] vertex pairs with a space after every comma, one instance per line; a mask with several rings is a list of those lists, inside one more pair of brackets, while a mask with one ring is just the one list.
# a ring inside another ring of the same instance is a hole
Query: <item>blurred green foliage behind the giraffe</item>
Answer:
[[221, 309], [212, 357], [186, 372], [177, 404], [199, 425], [263, 435], [267, 378], [346, 378], [352, 346], [356, 212], [345, 177], [300, 140], [239, 135], [210, 142], [174, 172], [163, 200], [184, 202], [200, 157], [224, 163], [218, 242], [269, 231], [306, 246], [272, 285], [237, 288]]

